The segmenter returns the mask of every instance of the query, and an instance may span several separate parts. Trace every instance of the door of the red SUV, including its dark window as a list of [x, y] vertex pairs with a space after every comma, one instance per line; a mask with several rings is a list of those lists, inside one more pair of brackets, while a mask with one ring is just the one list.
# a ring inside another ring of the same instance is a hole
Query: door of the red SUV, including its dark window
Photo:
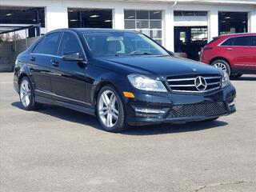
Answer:
[[253, 49], [253, 36], [242, 36], [234, 39], [233, 46], [227, 48], [230, 51], [230, 62], [233, 67], [241, 70], [249, 70], [254, 67], [255, 50]]

